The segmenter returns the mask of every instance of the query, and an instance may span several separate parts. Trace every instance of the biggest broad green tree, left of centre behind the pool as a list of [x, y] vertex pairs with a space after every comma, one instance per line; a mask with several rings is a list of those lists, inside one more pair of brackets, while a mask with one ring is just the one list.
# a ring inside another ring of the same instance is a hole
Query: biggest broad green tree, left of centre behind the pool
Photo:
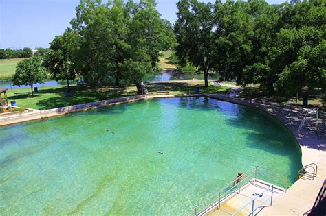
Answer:
[[105, 86], [113, 77], [116, 85], [123, 79], [139, 87], [153, 72], [160, 51], [174, 42], [171, 23], [160, 18], [155, 6], [154, 0], [80, 2], [71, 21], [78, 32], [74, 64], [88, 84]]

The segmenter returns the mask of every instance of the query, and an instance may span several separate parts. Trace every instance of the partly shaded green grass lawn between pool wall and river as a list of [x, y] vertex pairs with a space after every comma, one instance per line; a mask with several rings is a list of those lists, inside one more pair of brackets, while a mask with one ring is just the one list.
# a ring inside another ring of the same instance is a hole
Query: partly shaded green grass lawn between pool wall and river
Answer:
[[[201, 93], [224, 93], [228, 90], [228, 88], [219, 86], [209, 86], [208, 88], [204, 88], [204, 82], [160, 83], [149, 84], [146, 86], [149, 88], [151, 95], [156, 95], [157, 86], [164, 86], [165, 90], [169, 91], [170, 95], [178, 95], [188, 92], [195, 93], [195, 87], [197, 86], [200, 87]], [[107, 87], [96, 89], [71, 86], [72, 96], [65, 97], [67, 87], [53, 86], [39, 88], [39, 93], [34, 95], [34, 97], [28, 97], [27, 95], [14, 95], [14, 93], [23, 93], [29, 91], [30, 88], [8, 90], [8, 100], [16, 101], [17, 106], [20, 107], [45, 110], [137, 94], [137, 89], [135, 86], [121, 86], [119, 88]]]

